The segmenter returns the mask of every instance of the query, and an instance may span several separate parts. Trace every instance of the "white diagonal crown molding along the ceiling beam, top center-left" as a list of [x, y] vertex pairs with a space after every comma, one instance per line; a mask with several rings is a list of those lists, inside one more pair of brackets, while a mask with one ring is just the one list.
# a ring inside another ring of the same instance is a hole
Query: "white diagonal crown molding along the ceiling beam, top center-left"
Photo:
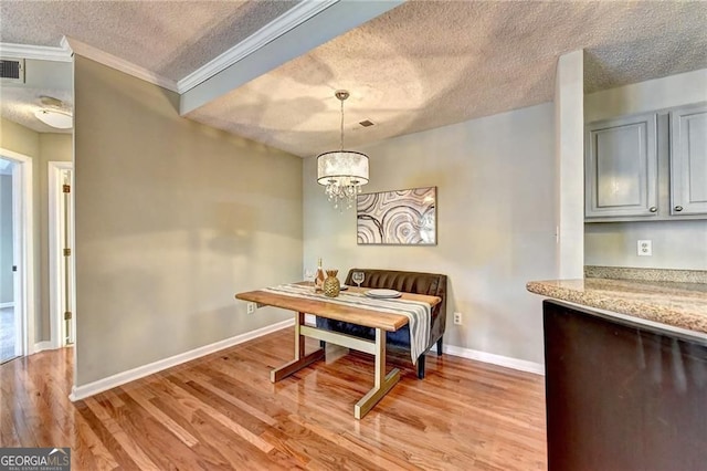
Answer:
[[223, 54], [178, 81], [177, 91], [181, 94], [193, 88], [337, 2], [339, 0], [302, 1], [297, 3]]

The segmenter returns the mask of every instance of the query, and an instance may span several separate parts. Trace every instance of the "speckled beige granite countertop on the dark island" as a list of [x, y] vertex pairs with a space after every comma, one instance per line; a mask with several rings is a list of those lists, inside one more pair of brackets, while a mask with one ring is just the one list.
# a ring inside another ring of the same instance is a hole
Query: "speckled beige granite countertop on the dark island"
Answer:
[[[697, 272], [699, 281], [701, 273]], [[707, 334], [707, 283], [663, 281], [673, 276], [632, 278], [531, 281], [526, 287], [547, 297]]]

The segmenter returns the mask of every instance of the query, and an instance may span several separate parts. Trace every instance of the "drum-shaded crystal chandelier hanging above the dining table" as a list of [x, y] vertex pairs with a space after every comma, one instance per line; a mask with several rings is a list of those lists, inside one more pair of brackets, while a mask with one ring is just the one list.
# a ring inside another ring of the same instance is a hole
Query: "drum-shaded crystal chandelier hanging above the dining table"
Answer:
[[361, 186], [368, 184], [368, 156], [354, 150], [344, 150], [344, 101], [349, 97], [346, 90], [338, 90], [334, 96], [341, 102], [341, 135], [339, 150], [317, 156], [317, 182], [324, 185], [325, 193], [335, 208], [346, 205], [351, 208]]

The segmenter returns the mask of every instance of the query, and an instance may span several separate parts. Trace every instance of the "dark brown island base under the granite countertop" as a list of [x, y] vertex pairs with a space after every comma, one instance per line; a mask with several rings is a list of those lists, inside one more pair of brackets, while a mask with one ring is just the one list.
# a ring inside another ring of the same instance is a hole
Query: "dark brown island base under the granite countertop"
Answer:
[[544, 302], [548, 469], [704, 470], [707, 342]]

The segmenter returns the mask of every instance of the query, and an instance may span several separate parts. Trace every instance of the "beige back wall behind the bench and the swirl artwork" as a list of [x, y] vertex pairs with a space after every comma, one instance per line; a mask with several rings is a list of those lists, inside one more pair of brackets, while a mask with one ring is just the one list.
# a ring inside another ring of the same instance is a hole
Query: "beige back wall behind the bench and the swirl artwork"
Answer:
[[362, 148], [366, 192], [437, 187], [435, 247], [357, 245], [355, 210], [330, 207], [305, 159], [305, 263], [446, 273], [446, 344], [544, 363], [541, 299], [525, 284], [557, 278], [553, 121], [549, 103]]

